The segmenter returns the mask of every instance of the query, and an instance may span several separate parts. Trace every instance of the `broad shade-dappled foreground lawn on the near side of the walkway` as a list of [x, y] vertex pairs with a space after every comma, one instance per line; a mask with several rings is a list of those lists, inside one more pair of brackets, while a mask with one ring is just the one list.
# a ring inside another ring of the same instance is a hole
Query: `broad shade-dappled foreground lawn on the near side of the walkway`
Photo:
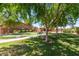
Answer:
[[79, 35], [50, 34], [52, 43], [45, 43], [41, 37], [1, 43], [0, 55], [26, 56], [78, 56]]

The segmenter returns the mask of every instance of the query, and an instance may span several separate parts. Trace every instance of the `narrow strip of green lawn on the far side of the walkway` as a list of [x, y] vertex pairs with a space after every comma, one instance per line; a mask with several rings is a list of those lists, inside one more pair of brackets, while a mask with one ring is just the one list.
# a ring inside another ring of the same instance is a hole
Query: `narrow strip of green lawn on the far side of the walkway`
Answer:
[[25, 33], [1, 35], [0, 39], [11, 39], [11, 38], [18, 38], [18, 37], [26, 37], [26, 36], [33, 36], [33, 35], [36, 35], [36, 34], [37, 34], [36, 32], [25, 32]]

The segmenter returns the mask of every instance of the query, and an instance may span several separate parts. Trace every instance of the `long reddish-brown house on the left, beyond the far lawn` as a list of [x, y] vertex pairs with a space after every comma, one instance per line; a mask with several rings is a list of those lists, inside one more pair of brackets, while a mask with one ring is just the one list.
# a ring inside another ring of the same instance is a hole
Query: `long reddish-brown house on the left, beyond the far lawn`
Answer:
[[4, 27], [3, 25], [0, 25], [0, 35], [13, 33], [14, 30], [17, 30], [17, 31], [18, 30], [28, 30], [28, 31], [30, 31], [31, 28], [32, 28], [31, 25], [24, 24], [24, 23], [14, 27], [14, 28], [10, 28], [10, 27], [7, 28], [7, 27]]

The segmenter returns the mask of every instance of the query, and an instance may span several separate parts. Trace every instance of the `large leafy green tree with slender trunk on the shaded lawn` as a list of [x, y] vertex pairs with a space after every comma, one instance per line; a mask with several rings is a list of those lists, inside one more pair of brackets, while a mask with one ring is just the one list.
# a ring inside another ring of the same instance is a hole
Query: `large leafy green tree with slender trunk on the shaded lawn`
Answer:
[[[46, 28], [46, 41], [48, 41], [48, 28], [54, 26], [57, 28], [59, 26], [66, 26], [69, 21], [72, 24], [78, 18], [78, 4], [34, 4], [34, 11], [36, 12], [36, 20], [41, 21]], [[71, 16], [72, 19], [69, 20], [67, 16]]]

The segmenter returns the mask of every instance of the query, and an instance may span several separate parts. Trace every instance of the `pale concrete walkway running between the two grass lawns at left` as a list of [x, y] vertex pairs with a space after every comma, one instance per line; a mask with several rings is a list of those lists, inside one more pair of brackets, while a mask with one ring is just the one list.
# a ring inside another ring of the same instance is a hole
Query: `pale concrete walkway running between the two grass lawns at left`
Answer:
[[29, 39], [32, 37], [38, 37], [41, 35], [45, 35], [45, 34], [39, 34], [39, 35], [33, 35], [33, 36], [28, 36], [28, 37], [23, 37], [23, 38], [13, 38], [13, 39], [0, 39], [0, 43], [5, 43], [5, 42], [11, 42], [11, 41], [18, 41], [18, 40], [25, 40], [25, 39]]

